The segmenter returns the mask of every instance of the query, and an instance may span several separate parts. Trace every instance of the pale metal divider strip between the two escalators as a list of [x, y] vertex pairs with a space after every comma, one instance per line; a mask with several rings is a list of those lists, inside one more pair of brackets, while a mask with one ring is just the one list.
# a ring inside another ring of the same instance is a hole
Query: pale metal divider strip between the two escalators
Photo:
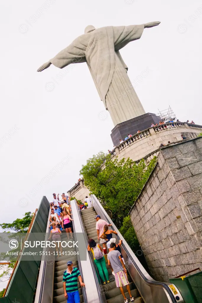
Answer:
[[86, 247], [78, 248], [78, 249], [86, 250], [86, 254], [87, 254], [87, 261], [80, 261], [80, 262], [81, 262], [81, 269], [83, 272], [83, 281], [85, 283], [85, 291], [86, 291], [88, 303], [106, 303], [106, 299], [103, 298], [101, 295], [99, 283], [94, 270], [94, 265], [91, 259], [90, 252], [87, 251], [88, 237], [85, 232], [81, 214], [80, 211], [78, 210], [78, 205], [75, 200], [71, 201], [71, 209], [72, 209], [72, 214], [74, 216], [73, 222], [75, 225], [75, 232], [83, 233], [86, 241]]

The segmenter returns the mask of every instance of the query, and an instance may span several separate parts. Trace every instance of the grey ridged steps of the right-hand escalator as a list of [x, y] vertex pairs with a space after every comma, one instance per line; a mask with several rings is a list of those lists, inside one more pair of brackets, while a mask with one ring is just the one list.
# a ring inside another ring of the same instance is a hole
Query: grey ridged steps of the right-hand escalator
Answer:
[[[97, 215], [97, 212], [94, 210], [93, 207], [87, 208], [85, 210], [81, 211], [82, 220], [85, 226], [86, 233], [88, 235], [88, 239], [92, 238], [96, 243], [100, 243], [97, 236], [97, 231], [95, 229], [95, 219], [94, 217]], [[109, 281], [111, 281], [109, 284], [105, 284], [104, 286], [101, 286], [102, 291], [105, 294], [105, 298], [107, 300], [107, 303], [121, 303], [123, 302], [123, 296], [120, 294], [119, 288], [116, 287], [116, 282], [114, 275], [112, 275], [112, 271], [109, 268], [108, 263], [106, 263], [106, 267], [109, 274]], [[142, 303], [142, 299], [137, 291], [136, 286], [134, 285], [131, 276], [128, 275], [128, 281], [130, 282], [130, 289], [131, 294], [134, 297], [134, 303]], [[125, 296], [129, 299], [130, 296], [126, 290], [126, 287], [124, 286], [124, 292]], [[130, 300], [129, 300], [130, 301]]]

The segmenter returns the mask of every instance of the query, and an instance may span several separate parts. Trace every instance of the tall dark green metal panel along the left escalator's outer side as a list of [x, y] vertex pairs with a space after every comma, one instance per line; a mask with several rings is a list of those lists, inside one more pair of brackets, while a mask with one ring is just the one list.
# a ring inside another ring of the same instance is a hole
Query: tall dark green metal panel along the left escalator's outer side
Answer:
[[[32, 233], [44, 233], [44, 238], [49, 209], [50, 204], [47, 198], [44, 196], [41, 200], [31, 228]], [[32, 303], [39, 266], [40, 261], [36, 261], [34, 257], [33, 261], [20, 261], [12, 277], [12, 281], [9, 284], [6, 296], [0, 298], [0, 303], [12, 303], [12, 301], [20, 303]]]

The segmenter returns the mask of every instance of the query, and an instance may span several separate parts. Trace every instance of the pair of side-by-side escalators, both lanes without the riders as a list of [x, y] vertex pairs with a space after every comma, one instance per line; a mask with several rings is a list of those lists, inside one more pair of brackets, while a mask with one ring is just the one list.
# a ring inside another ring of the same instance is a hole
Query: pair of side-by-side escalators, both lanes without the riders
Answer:
[[[63, 273], [67, 268], [67, 260], [73, 262], [74, 267], [78, 267], [85, 287], [81, 289], [78, 282], [79, 295], [81, 302], [84, 303], [119, 303], [123, 302], [124, 298], [121, 295], [120, 289], [116, 287], [114, 275], [111, 269], [106, 264], [110, 283], [102, 285], [98, 270], [95, 266], [92, 253], [87, 251], [88, 238], [93, 238], [96, 243], [97, 231], [95, 229], [96, 221], [94, 219], [96, 214], [101, 216], [109, 224], [112, 224], [111, 229], [116, 230], [118, 235], [114, 235], [116, 243], [120, 239], [123, 240], [121, 245], [121, 254], [124, 257], [127, 268], [128, 280], [130, 282], [131, 294], [134, 297], [135, 303], [182, 303], [184, 302], [180, 292], [170, 283], [155, 281], [141, 263], [138, 261], [134, 252], [131, 250], [127, 242], [124, 240], [120, 232], [117, 230], [111, 218], [108, 216], [98, 199], [91, 195], [92, 208], [79, 210], [75, 200], [71, 201], [71, 208], [73, 219], [73, 230], [75, 231], [74, 238], [76, 240], [77, 233], [81, 233], [84, 237], [84, 243], [76, 248], [79, 252], [77, 256], [61, 256], [57, 260], [51, 259], [47, 256], [44, 261], [41, 261], [37, 291], [35, 296], [35, 303], [66, 303], [63, 290]], [[48, 228], [48, 225], [47, 225]], [[63, 233], [67, 237], [66, 233]], [[70, 251], [70, 249], [68, 249]], [[73, 251], [73, 249], [72, 249]], [[86, 251], [85, 261], [80, 260], [81, 251]], [[169, 286], [172, 286], [171, 288]], [[174, 294], [173, 287], [177, 291]], [[126, 297], [129, 299], [129, 294], [124, 287]], [[130, 302], [130, 299], [129, 299]]]

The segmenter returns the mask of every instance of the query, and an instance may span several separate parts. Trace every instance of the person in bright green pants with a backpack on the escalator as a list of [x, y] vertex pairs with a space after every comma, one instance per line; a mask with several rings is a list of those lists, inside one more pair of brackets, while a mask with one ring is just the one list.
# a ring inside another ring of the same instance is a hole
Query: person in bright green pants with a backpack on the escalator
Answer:
[[[104, 275], [106, 277], [107, 283], [109, 281], [109, 274], [105, 263], [105, 258], [102, 254], [102, 248], [99, 244], [97, 244], [93, 239], [88, 240], [88, 251], [91, 251], [93, 254], [94, 262], [96, 267], [98, 268], [98, 273], [102, 280], [102, 284], [106, 284]], [[103, 273], [104, 272], [104, 273]]]

